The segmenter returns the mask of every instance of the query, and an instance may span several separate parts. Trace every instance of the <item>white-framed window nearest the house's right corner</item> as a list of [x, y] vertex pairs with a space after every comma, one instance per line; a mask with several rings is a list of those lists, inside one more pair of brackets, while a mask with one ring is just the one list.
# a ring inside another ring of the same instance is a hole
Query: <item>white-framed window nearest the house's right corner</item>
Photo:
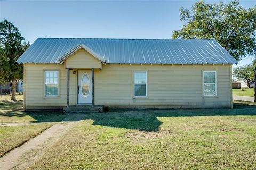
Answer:
[[204, 71], [204, 96], [217, 95], [217, 83], [215, 71]]

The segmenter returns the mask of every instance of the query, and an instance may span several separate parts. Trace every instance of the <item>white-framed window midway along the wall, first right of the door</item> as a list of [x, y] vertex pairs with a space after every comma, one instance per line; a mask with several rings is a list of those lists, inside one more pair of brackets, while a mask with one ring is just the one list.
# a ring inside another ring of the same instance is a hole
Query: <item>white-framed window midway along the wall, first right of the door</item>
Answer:
[[147, 72], [134, 72], [134, 96], [147, 96]]

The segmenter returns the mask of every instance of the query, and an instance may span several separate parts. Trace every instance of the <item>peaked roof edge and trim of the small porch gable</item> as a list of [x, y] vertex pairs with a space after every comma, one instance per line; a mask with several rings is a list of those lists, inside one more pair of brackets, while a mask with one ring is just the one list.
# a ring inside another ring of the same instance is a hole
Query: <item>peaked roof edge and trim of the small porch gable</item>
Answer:
[[72, 55], [73, 53], [77, 52], [77, 50], [79, 50], [81, 48], [86, 50], [88, 53], [90, 53], [93, 57], [97, 58], [99, 61], [101, 61], [102, 64], [106, 65], [106, 62], [105, 62], [104, 58], [99, 56], [97, 53], [93, 52], [93, 50], [91, 48], [87, 47], [84, 44], [78, 44], [76, 47], [74, 47], [73, 49], [69, 50], [69, 52], [67, 52], [62, 57], [60, 57], [59, 58], [60, 63], [63, 63], [66, 60], [66, 58], [68, 58], [70, 55]]

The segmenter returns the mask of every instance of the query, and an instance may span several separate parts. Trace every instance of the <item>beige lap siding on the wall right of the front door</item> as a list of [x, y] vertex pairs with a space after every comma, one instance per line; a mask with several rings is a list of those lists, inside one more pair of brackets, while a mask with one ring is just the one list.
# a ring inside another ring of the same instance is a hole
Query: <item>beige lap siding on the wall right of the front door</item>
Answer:
[[[217, 71], [218, 97], [202, 97], [202, 71]], [[132, 72], [148, 72], [148, 97], [132, 98]], [[95, 72], [99, 105], [230, 105], [230, 65], [106, 65]]]

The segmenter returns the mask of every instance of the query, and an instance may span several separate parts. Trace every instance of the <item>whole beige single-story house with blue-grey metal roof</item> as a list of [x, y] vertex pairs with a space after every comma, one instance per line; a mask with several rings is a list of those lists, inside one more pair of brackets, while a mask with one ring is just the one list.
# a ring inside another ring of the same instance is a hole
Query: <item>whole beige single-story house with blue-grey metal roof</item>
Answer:
[[232, 108], [236, 60], [214, 39], [38, 38], [17, 62], [26, 109]]

